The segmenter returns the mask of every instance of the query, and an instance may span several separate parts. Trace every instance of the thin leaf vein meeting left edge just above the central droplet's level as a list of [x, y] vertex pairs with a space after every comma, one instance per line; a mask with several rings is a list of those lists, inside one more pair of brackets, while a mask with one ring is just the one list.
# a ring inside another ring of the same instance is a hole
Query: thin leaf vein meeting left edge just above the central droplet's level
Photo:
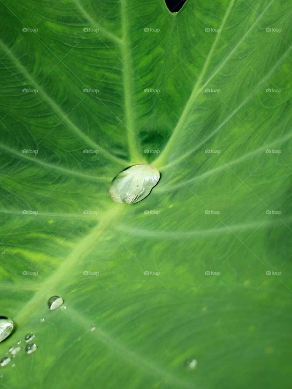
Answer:
[[90, 174], [85, 174], [82, 172], [76, 172], [75, 170], [69, 170], [69, 169], [63, 168], [62, 166], [54, 165], [53, 163], [47, 163], [44, 161], [40, 161], [40, 159], [38, 159], [38, 158], [29, 157], [28, 155], [23, 154], [23, 153], [16, 151], [14, 149], [11, 149], [10, 147], [2, 145], [1, 143], [0, 143], [0, 149], [4, 150], [5, 152], [7, 152], [9, 154], [15, 155], [17, 158], [25, 159], [26, 161], [30, 161], [30, 162], [35, 163], [35, 164], [40, 165], [40, 166], [45, 166], [47, 169], [57, 170], [58, 172], [65, 173], [67, 175], [73, 175], [74, 177], [79, 177], [79, 178], [86, 179], [86, 180], [93, 180], [93, 181], [97, 181], [97, 182], [110, 182], [111, 181], [111, 178], [99, 177], [99, 176], [94, 176], [94, 175], [90, 175]]

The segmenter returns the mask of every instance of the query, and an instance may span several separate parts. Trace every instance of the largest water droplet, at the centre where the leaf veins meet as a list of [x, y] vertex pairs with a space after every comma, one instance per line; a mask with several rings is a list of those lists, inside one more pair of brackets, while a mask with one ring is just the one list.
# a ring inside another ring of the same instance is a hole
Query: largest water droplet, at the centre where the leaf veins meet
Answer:
[[148, 196], [159, 179], [160, 173], [154, 166], [133, 165], [114, 177], [109, 194], [116, 203], [134, 204]]

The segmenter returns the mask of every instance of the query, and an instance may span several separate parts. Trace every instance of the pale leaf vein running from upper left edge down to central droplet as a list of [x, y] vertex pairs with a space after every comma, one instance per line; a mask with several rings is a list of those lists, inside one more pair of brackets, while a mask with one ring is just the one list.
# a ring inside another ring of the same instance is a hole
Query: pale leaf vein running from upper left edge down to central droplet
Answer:
[[60, 118], [60, 122], [66, 123], [67, 128], [72, 131], [80, 140], [85, 142], [86, 145], [91, 146], [93, 149], [99, 150], [99, 154], [103, 155], [105, 158], [114, 161], [115, 163], [118, 163], [119, 165], [128, 166], [128, 163], [126, 161], [123, 161], [123, 159], [117, 158], [110, 154], [108, 151], [100, 147], [99, 144], [94, 142], [91, 138], [89, 138], [87, 135], [85, 135], [67, 116], [67, 114], [59, 107], [59, 105], [49, 96], [47, 95], [46, 91], [40, 86], [37, 81], [30, 75], [28, 70], [19, 62], [19, 60], [16, 58], [16, 56], [12, 53], [12, 50], [9, 49], [5, 45], [4, 42], [0, 39], [0, 47], [2, 50], [7, 54], [7, 56], [11, 59], [12, 63], [18, 68], [18, 70], [25, 76], [25, 78], [30, 82], [30, 84], [35, 88], [38, 89], [38, 93], [40, 96], [46, 100], [50, 107], [53, 109], [53, 112], [56, 113], [56, 116]]

